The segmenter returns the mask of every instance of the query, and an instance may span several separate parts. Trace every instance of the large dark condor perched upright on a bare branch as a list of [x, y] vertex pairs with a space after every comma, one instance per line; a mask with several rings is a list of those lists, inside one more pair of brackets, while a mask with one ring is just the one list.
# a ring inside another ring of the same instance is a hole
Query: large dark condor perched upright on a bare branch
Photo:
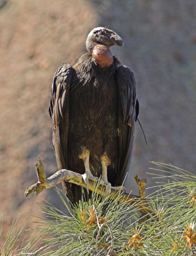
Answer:
[[[132, 159], [134, 127], [139, 114], [136, 81], [129, 67], [111, 53], [124, 41], [111, 29], [95, 27], [86, 50], [72, 67], [55, 72], [49, 114], [58, 169], [100, 178], [110, 193], [125, 181]], [[80, 186], [63, 181], [73, 205], [82, 199]]]

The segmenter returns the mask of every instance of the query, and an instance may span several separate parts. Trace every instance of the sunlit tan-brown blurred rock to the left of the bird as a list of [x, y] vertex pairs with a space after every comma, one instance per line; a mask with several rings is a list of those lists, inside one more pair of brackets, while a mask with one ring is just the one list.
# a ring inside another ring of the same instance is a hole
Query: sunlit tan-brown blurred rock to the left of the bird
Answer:
[[85, 1], [8, 1], [0, 10], [0, 216], [7, 212], [5, 227], [19, 212], [21, 221], [40, 215], [36, 202], [48, 193], [25, 199], [24, 190], [36, 181], [38, 155], [48, 174], [57, 170], [48, 114], [52, 77], [61, 63], [74, 64], [83, 54], [94, 26], [96, 14]]

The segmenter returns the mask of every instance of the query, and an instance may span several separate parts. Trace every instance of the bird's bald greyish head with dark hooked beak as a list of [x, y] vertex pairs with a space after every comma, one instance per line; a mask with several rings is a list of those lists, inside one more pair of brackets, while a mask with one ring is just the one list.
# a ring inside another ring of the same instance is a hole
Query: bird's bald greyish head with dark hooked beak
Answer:
[[103, 44], [108, 47], [113, 45], [123, 46], [123, 39], [111, 29], [106, 29], [106, 27], [95, 27], [95, 29], [91, 30], [87, 36], [87, 51], [91, 53], [96, 44]]

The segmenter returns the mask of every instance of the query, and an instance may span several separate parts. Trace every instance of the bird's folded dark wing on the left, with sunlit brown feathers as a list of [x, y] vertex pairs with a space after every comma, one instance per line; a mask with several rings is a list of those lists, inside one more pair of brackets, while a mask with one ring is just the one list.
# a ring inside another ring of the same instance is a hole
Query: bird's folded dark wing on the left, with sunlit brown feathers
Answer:
[[53, 122], [53, 145], [58, 169], [67, 167], [69, 88], [74, 69], [63, 63], [55, 72], [50, 94], [49, 114]]

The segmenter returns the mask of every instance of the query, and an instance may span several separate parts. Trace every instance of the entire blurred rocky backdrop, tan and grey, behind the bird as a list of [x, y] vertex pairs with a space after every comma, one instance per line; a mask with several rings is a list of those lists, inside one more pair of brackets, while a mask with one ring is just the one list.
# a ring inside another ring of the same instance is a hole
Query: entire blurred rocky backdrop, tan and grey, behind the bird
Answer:
[[[76, 63], [96, 26], [108, 26], [124, 39], [112, 52], [137, 81], [139, 125], [127, 189], [137, 193], [133, 175], [148, 177], [149, 161], [195, 170], [196, 2], [194, 0], [8, 0], [0, 1], [0, 219], [4, 229], [20, 213], [43, 216], [37, 203], [64, 210], [47, 190], [24, 198], [36, 182], [38, 155], [50, 175], [57, 171], [48, 114], [55, 69]], [[36, 226], [30, 221], [27, 227]], [[4, 234], [5, 235], [5, 234]], [[4, 238], [2, 236], [2, 239]]]

